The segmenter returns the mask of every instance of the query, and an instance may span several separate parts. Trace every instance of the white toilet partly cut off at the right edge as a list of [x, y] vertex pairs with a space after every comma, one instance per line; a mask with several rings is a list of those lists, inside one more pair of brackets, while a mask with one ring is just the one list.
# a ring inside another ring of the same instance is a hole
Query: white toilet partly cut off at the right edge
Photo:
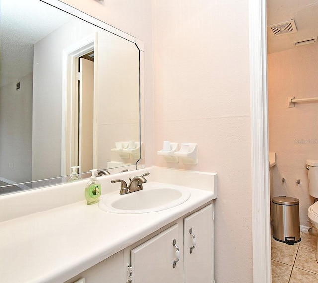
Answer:
[[[307, 173], [309, 194], [318, 199], [318, 160], [307, 159]], [[316, 229], [318, 229], [318, 201], [308, 208], [308, 218]], [[316, 261], [318, 262], [318, 243], [316, 250]]]

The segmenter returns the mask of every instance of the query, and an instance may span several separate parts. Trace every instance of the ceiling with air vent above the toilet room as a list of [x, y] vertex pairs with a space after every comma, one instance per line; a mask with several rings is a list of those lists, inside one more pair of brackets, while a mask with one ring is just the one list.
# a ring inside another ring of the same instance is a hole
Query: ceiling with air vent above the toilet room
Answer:
[[267, 0], [267, 26], [291, 19], [296, 33], [274, 37], [267, 29], [268, 53], [298, 48], [292, 42], [318, 36], [318, 0]]

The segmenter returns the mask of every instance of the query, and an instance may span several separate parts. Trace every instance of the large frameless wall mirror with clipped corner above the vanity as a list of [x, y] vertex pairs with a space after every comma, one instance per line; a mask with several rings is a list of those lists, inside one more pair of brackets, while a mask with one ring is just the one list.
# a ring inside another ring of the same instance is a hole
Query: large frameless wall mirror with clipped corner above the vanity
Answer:
[[0, 0], [0, 30], [0, 194], [137, 164], [141, 41], [57, 0]]

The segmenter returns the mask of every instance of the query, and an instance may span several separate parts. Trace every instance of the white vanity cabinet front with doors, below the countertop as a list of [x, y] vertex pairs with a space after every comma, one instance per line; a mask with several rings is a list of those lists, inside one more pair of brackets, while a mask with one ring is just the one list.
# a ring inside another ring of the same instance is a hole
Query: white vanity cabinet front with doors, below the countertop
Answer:
[[[198, 245], [193, 245], [193, 237]], [[174, 239], [176, 246], [173, 246]], [[75, 283], [82, 278], [86, 283], [102, 283], [105, 280], [109, 283], [212, 283], [213, 273], [213, 204], [209, 204], [173, 221], [67, 283]]]

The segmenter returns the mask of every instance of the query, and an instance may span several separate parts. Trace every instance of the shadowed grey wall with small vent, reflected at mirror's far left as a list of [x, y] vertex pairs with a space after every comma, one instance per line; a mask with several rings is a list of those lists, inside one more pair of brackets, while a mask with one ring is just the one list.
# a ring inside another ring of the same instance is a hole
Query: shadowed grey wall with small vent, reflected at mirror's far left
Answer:
[[0, 180], [4, 182], [31, 180], [32, 81], [29, 73], [0, 90]]

